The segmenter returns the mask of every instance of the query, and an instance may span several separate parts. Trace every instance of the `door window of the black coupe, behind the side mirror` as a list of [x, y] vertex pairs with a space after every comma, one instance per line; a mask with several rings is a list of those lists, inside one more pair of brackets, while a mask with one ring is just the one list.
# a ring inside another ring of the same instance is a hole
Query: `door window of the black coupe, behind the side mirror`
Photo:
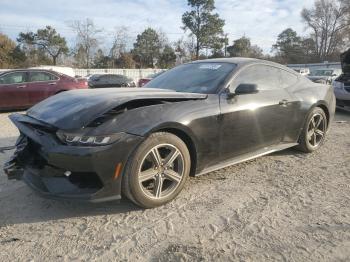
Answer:
[[253, 65], [242, 72], [235, 78], [233, 88], [239, 84], [256, 84], [259, 90], [274, 90], [281, 88], [280, 69], [266, 66]]

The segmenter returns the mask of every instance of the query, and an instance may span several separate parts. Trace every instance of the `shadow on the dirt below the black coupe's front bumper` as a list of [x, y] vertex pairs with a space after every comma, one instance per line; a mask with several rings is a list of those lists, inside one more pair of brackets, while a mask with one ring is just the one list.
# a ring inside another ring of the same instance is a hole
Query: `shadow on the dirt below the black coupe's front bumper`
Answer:
[[[21, 181], [15, 183], [23, 184]], [[0, 228], [14, 224], [116, 215], [138, 210], [142, 209], [126, 199], [96, 204], [45, 199], [23, 184], [9, 195], [0, 194]]]

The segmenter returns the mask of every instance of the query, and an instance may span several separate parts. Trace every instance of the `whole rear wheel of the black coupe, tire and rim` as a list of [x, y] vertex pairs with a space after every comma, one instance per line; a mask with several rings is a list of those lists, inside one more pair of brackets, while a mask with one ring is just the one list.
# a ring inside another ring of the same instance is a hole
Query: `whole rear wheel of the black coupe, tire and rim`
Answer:
[[319, 108], [313, 108], [304, 124], [303, 130], [299, 136], [299, 145], [296, 149], [311, 153], [320, 148], [325, 140], [327, 131], [327, 116], [325, 112]]

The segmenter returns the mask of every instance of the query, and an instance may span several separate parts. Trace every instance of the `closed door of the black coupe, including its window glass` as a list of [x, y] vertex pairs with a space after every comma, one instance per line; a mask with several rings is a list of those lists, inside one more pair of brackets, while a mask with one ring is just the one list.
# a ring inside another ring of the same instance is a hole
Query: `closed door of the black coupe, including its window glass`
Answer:
[[268, 65], [244, 68], [231, 82], [231, 92], [240, 84], [255, 84], [258, 92], [233, 98], [221, 94], [222, 160], [280, 143], [293, 112], [288, 102], [292, 97], [282, 88], [279, 68]]

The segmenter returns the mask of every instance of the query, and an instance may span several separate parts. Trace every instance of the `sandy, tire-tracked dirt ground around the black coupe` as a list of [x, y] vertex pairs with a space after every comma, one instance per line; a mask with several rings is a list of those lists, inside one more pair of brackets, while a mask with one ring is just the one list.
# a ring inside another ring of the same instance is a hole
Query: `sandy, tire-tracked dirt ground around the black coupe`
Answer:
[[[193, 178], [153, 210], [42, 199], [1, 170], [0, 261], [349, 261], [350, 113], [336, 120], [314, 154], [286, 150]], [[16, 135], [0, 114], [0, 146]]]

